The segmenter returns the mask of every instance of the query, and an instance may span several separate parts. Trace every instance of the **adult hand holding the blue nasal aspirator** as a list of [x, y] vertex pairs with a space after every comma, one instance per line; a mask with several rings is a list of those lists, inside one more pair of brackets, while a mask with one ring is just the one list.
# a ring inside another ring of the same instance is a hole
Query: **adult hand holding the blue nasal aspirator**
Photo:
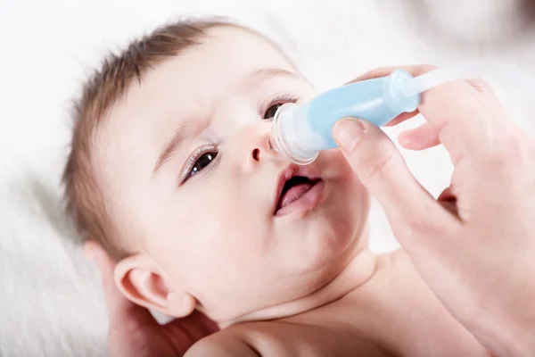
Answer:
[[[404, 69], [418, 75], [432, 67]], [[418, 111], [427, 122], [399, 143], [415, 150], [441, 143], [449, 151], [455, 170], [436, 200], [382, 130], [348, 119], [333, 136], [452, 315], [498, 356], [535, 356], [535, 143], [506, 120], [481, 80], [452, 82], [422, 98]]]

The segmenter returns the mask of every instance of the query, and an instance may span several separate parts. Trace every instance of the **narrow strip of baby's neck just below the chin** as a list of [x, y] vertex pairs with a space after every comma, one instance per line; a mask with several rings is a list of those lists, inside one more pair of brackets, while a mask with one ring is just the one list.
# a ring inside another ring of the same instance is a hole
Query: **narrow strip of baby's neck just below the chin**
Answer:
[[343, 296], [350, 294], [360, 286], [364, 286], [374, 276], [377, 258], [374, 253], [365, 249], [355, 254], [342, 272], [328, 284], [319, 288], [315, 293], [304, 296], [292, 302], [251, 312], [239, 319], [220, 323], [226, 328], [236, 323], [254, 320], [276, 320], [317, 309], [328, 303], [333, 303]]

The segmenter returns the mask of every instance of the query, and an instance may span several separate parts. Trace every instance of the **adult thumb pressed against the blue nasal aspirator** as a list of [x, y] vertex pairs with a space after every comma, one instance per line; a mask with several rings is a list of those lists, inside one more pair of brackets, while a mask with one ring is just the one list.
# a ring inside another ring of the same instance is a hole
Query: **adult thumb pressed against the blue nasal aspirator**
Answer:
[[[401, 244], [416, 235], [439, 234], [444, 220], [451, 220], [409, 172], [399, 150], [383, 130], [366, 120], [343, 119], [334, 126], [333, 138], [342, 146], [358, 179], [383, 206]], [[437, 232], [430, 231], [435, 230], [433, 226]], [[417, 232], [424, 227], [425, 232]]]

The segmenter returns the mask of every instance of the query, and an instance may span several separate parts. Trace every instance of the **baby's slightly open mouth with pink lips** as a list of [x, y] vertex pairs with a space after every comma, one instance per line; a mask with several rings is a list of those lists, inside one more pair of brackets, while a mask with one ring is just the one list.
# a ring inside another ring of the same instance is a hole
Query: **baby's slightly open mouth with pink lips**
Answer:
[[310, 177], [306, 172], [287, 172], [279, 182], [275, 213], [289, 211], [288, 207], [298, 203], [320, 181], [321, 179]]

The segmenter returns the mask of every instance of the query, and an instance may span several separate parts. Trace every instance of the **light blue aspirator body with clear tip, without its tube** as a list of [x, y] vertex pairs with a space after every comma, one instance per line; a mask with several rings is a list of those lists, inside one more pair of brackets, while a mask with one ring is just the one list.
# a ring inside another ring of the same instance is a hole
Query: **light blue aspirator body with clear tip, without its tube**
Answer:
[[281, 107], [272, 134], [276, 151], [292, 162], [307, 164], [319, 151], [337, 147], [333, 127], [342, 118], [359, 118], [381, 127], [403, 112], [414, 112], [420, 95], [403, 93], [412, 78], [407, 71], [396, 70], [386, 77], [328, 90], [301, 106]]

